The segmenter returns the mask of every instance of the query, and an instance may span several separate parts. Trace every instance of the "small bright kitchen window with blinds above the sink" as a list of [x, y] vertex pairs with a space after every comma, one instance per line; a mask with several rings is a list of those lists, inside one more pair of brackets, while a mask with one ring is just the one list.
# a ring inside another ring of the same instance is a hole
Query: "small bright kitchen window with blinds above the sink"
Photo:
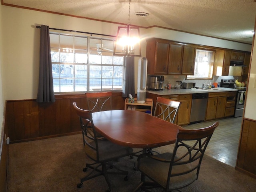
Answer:
[[187, 75], [187, 79], [211, 79], [214, 53], [211, 50], [196, 49], [194, 75]]

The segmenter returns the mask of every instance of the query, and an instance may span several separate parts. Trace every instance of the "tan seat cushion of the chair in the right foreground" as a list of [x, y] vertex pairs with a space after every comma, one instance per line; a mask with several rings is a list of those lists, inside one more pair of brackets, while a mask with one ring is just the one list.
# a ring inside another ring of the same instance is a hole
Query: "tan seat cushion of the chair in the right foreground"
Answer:
[[[158, 158], [171, 160], [172, 153], [164, 153], [164, 154], [159, 154], [155, 156], [157, 156]], [[164, 188], [166, 188], [169, 168], [170, 168], [169, 162], [160, 162], [158, 160], [155, 160], [149, 157], [141, 158], [140, 160], [139, 170], [146, 175], [150, 175], [152, 180], [156, 181], [158, 184], [160, 184]], [[183, 172], [184, 170], [190, 170], [190, 169], [191, 167], [187, 165], [173, 166], [172, 174], [174, 173], [178, 174], [180, 172]], [[188, 184], [191, 184], [196, 179], [197, 179], [196, 170], [188, 174], [170, 177], [169, 189], [171, 190], [176, 188], [182, 188], [184, 186], [187, 186]]]

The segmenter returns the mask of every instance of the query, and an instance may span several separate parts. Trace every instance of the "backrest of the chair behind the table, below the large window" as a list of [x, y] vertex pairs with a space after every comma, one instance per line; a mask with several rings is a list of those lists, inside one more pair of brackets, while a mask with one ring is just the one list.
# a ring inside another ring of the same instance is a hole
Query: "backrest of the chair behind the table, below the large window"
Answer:
[[92, 112], [112, 110], [112, 92], [86, 93], [86, 98]]

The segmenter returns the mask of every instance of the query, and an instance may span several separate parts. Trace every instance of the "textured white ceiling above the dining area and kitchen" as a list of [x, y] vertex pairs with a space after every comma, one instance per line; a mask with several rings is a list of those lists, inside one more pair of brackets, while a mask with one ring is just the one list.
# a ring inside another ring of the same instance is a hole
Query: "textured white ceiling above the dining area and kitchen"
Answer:
[[[128, 23], [128, 0], [2, 0], [2, 4]], [[131, 0], [130, 24], [252, 44], [256, 0]], [[146, 17], [135, 12], [146, 12]], [[54, 27], [54, 26], [52, 26]]]

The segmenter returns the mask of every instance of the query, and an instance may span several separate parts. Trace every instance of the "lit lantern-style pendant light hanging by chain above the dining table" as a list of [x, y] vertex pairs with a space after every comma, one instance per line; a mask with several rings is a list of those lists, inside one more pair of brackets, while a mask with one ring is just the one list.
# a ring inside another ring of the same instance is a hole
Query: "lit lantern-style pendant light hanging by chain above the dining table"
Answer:
[[130, 6], [131, 0], [129, 0], [128, 24], [125, 27], [118, 27], [114, 55], [140, 57], [140, 28], [130, 24]]

